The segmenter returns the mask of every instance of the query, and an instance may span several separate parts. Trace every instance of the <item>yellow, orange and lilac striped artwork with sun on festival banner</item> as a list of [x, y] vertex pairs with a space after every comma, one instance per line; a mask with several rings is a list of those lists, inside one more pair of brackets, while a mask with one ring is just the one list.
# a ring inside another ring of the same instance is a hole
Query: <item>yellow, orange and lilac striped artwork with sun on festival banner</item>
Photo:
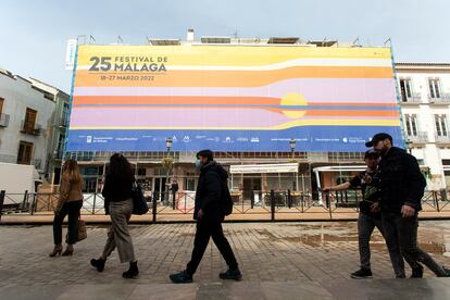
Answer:
[[[111, 57], [113, 64], [121, 57], [166, 57], [167, 71], [92, 72], [96, 55]], [[342, 136], [338, 128], [350, 126], [362, 128], [358, 138], [363, 140], [374, 133], [371, 128], [385, 128], [399, 139], [396, 99], [386, 48], [80, 46], [70, 147], [80, 150], [89, 130], [149, 136], [267, 132], [264, 136], [277, 137], [300, 127], [310, 128], [311, 136], [318, 130]]]

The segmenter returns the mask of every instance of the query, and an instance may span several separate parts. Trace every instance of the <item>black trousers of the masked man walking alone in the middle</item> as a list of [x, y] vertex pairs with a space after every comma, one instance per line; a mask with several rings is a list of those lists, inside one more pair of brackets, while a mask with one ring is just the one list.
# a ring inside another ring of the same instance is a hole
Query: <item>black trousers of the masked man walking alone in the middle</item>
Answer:
[[203, 253], [207, 250], [210, 237], [212, 237], [215, 246], [217, 247], [222, 257], [225, 259], [228, 267], [230, 270], [238, 268], [238, 263], [236, 261], [235, 254], [233, 253], [232, 247], [224, 236], [222, 222], [201, 220], [197, 221], [197, 232], [196, 238], [193, 240], [192, 258], [186, 267], [186, 272], [189, 275], [193, 275], [193, 273], [196, 273], [197, 267], [203, 258]]

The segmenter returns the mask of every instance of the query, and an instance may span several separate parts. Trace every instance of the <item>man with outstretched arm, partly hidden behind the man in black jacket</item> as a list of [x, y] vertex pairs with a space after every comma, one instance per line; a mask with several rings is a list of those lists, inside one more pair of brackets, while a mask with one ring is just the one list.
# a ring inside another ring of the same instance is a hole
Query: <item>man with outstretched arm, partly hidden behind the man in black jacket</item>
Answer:
[[[382, 213], [379, 212], [378, 201], [379, 192], [379, 174], [377, 172], [379, 153], [373, 149], [367, 150], [364, 154], [364, 162], [367, 168], [354, 176], [350, 182], [341, 185], [325, 188], [324, 191], [347, 190], [349, 188], [362, 189], [362, 201], [359, 203], [360, 215], [358, 217], [358, 246], [360, 250], [361, 268], [350, 276], [352, 278], [371, 278], [371, 248], [370, 240], [375, 227], [384, 236], [382, 225]], [[402, 260], [398, 247], [389, 249], [389, 254], [397, 261]], [[395, 266], [396, 268], [396, 266]], [[396, 273], [404, 274], [404, 267], [396, 270]], [[403, 273], [401, 273], [403, 272]]]

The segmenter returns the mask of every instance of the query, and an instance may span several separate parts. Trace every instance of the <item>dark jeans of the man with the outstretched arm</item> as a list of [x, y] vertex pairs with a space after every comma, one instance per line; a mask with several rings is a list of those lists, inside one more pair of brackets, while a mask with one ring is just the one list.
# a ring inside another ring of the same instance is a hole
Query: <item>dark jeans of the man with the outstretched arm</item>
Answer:
[[360, 249], [361, 268], [371, 268], [371, 247], [368, 242], [371, 241], [371, 236], [375, 227], [384, 236], [380, 218], [360, 213], [358, 218], [358, 246]]

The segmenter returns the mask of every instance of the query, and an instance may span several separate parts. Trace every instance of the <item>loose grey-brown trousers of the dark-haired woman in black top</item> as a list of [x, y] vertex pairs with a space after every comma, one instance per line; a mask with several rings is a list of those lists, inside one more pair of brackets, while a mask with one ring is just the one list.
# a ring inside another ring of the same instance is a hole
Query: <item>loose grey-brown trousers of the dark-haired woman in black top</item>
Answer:
[[117, 248], [121, 263], [135, 261], [135, 249], [128, 230], [128, 221], [132, 217], [133, 199], [110, 202], [111, 226], [101, 258], [105, 260]]

